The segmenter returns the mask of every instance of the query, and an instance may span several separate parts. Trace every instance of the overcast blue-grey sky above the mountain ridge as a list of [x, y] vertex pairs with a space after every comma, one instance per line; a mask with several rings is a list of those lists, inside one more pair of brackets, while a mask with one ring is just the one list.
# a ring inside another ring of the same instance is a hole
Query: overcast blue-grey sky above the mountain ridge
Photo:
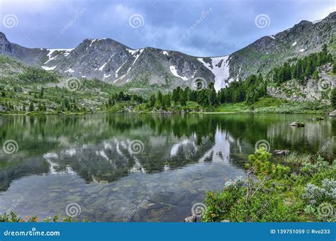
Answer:
[[26, 47], [112, 38], [133, 48], [218, 56], [332, 11], [335, 0], [0, 0], [0, 31]]

